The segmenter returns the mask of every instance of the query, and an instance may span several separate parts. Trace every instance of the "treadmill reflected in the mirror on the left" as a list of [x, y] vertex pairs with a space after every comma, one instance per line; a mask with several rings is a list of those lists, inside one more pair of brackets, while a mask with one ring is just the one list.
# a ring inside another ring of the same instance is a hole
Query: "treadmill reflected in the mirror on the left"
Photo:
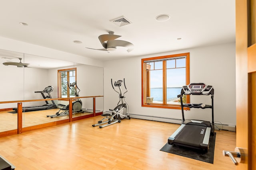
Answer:
[[[43, 98], [44, 99], [48, 99], [48, 98], [52, 98], [50, 92], [53, 91], [53, 87], [52, 86], [48, 86], [46, 88], [44, 88], [43, 91], [37, 91], [35, 93], [41, 93]], [[48, 96], [44, 95], [44, 94], [48, 94]], [[47, 100], [45, 101], [46, 104], [44, 105], [40, 105], [40, 106], [25, 106], [25, 107], [22, 107], [22, 111], [33, 111], [33, 110], [46, 110], [46, 109], [56, 109], [57, 106], [56, 104], [54, 103], [53, 100], [51, 100], [52, 103], [49, 103]], [[12, 108], [14, 111], [17, 111], [18, 110], [18, 107], [14, 107]]]

